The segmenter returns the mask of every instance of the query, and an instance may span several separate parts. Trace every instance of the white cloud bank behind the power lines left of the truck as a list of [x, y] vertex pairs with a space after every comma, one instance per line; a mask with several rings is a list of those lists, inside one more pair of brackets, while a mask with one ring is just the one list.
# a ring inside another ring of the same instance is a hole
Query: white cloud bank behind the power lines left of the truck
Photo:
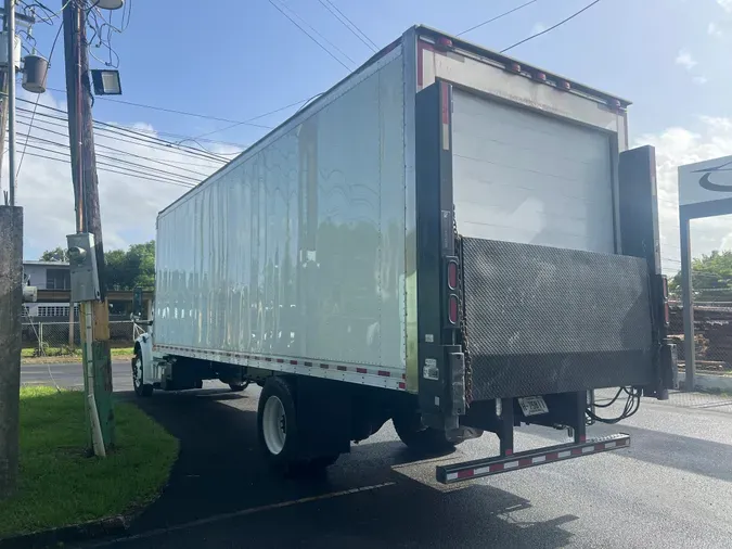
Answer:
[[[35, 97], [33, 99], [35, 100]], [[42, 97], [40, 104], [57, 108], [65, 107], [65, 104], [54, 103], [53, 98], [48, 93]], [[18, 106], [26, 105], [21, 103]], [[43, 113], [43, 107], [39, 106], [38, 112]], [[20, 122], [23, 122], [23, 118]], [[36, 117], [33, 136], [57, 143], [68, 143], [68, 138], [53, 133], [65, 133], [63, 127], [48, 127], [43, 122], [42, 116]], [[145, 133], [152, 129], [150, 125], [142, 123], [133, 127]], [[26, 133], [27, 126], [18, 125], [17, 131]], [[155, 137], [154, 132], [150, 135]], [[213, 173], [221, 165], [221, 163], [196, 155], [181, 154], [174, 148], [157, 149], [145, 143], [127, 142], [129, 140], [130, 137], [116, 139], [107, 132], [95, 133], [98, 164], [100, 165], [102, 234], [105, 250], [126, 248], [130, 244], [154, 238], [157, 213], [189, 190], [185, 187], [167, 184], [159, 180], [158, 182], [149, 181], [142, 177], [164, 179], [166, 175], [170, 178], [174, 177], [170, 174], [178, 174], [176, 179], [184, 178], [188, 181], [188, 178], [191, 178], [190, 181], [194, 182], [202, 180], [205, 175]], [[23, 151], [24, 142], [25, 137], [18, 136], [18, 155]], [[65, 245], [66, 234], [75, 231], [74, 193], [69, 164], [30, 155], [42, 154], [68, 158], [68, 150], [36, 141], [33, 138], [29, 144], [59, 151], [59, 153], [49, 153], [28, 148], [29, 154], [23, 159], [18, 177], [16, 203], [24, 207], [24, 255], [27, 259], [36, 259], [43, 250]], [[106, 148], [114, 148], [118, 151]], [[219, 153], [233, 151], [232, 149], [215, 150]], [[151, 159], [143, 159], [140, 156]], [[119, 163], [113, 158], [124, 162]], [[126, 163], [141, 164], [143, 167], [134, 167]], [[126, 176], [105, 171], [110, 166], [103, 164], [117, 166], [112, 168], [115, 171], [137, 170], [138, 174]], [[8, 162], [3, 163], [2, 188], [8, 188]]]

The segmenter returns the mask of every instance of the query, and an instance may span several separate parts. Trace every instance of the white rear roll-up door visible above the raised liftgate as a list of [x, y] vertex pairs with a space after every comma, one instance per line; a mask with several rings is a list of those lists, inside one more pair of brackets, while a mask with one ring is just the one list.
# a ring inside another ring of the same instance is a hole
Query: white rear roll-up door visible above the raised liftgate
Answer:
[[461, 234], [615, 251], [608, 133], [460, 90], [453, 110]]

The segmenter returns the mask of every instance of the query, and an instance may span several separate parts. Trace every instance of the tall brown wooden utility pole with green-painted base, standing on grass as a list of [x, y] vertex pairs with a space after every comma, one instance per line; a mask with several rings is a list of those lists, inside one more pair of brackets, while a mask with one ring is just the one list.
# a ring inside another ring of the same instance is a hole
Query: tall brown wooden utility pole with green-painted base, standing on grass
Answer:
[[[97, 157], [91, 117], [91, 84], [87, 52], [87, 13], [81, 0], [62, 0], [68, 138], [76, 209], [76, 237], [91, 234], [89, 253], [95, 256], [99, 292], [95, 299], [79, 303], [79, 333], [84, 348], [89, 443], [94, 454], [104, 456], [114, 444], [112, 407], [112, 359], [110, 353], [110, 308], [105, 296], [104, 246], [99, 206]], [[74, 237], [69, 237], [69, 242]], [[69, 246], [70, 255], [70, 246]], [[77, 257], [78, 258], [78, 257]], [[69, 259], [72, 259], [69, 257]], [[74, 273], [74, 267], [72, 267]], [[72, 281], [72, 292], [74, 292]], [[74, 304], [69, 303], [69, 307]], [[91, 341], [90, 341], [91, 340]], [[103, 439], [103, 445], [100, 444]]]

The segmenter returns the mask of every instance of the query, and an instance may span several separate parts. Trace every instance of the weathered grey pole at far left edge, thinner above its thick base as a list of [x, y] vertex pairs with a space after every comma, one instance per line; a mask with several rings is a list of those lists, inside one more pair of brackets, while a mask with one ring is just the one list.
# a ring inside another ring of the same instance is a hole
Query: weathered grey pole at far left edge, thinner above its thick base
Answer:
[[[11, 111], [10, 189], [0, 205], [0, 499], [17, 487], [21, 398], [21, 311], [23, 307], [23, 208], [15, 206], [15, 2], [5, 0], [7, 78], [3, 110]], [[8, 106], [5, 106], [5, 104]], [[5, 127], [0, 129], [5, 132]]]

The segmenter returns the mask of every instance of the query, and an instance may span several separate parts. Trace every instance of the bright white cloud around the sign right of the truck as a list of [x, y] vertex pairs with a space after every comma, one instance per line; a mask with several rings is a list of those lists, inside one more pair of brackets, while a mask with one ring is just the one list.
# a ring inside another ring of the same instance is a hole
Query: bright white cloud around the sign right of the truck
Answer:
[[[680, 269], [678, 167], [732, 153], [732, 118], [704, 116], [697, 132], [672, 127], [660, 133], [640, 136], [637, 146], [656, 148], [660, 255], [664, 272]], [[732, 247], [732, 216], [692, 221], [692, 255]]]

